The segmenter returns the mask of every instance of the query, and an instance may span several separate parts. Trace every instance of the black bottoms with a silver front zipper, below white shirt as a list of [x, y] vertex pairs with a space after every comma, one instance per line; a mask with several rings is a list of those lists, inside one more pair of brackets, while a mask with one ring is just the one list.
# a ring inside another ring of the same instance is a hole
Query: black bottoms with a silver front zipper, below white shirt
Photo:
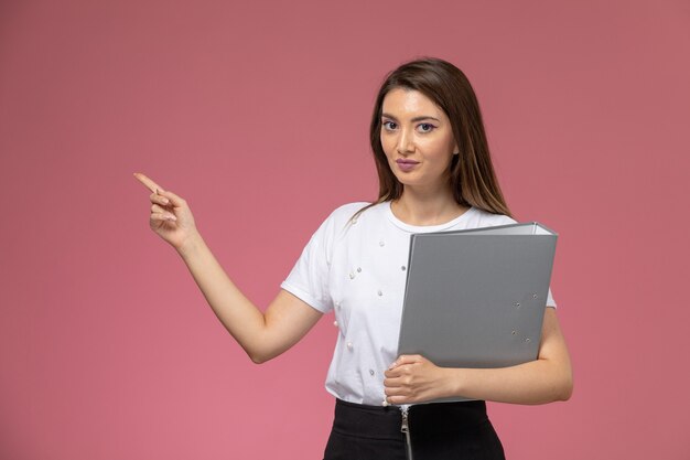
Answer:
[[402, 425], [399, 407], [336, 399], [324, 460], [505, 460], [483, 400], [413, 405]]

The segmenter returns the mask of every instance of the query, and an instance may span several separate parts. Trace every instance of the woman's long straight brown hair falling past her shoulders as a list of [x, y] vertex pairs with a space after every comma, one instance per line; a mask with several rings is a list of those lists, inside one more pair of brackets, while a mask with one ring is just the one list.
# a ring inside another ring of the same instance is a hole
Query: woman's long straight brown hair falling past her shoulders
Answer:
[[453, 156], [450, 174], [455, 201], [463, 206], [510, 215], [494, 173], [474, 89], [460, 68], [439, 58], [421, 58], [402, 64], [388, 74], [378, 92], [369, 130], [379, 181], [378, 200], [374, 204], [397, 200], [402, 195], [402, 184], [388, 165], [380, 138], [384, 98], [395, 88], [422, 93], [449, 117], [460, 149], [460, 154]]

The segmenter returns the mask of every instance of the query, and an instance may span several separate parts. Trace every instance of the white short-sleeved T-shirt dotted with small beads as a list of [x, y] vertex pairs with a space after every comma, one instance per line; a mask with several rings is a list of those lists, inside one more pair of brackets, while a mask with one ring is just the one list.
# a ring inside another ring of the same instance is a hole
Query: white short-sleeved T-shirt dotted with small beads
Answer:
[[[304, 248], [281, 287], [314, 309], [335, 312], [339, 334], [326, 389], [351, 403], [380, 405], [384, 372], [396, 360], [410, 235], [513, 224], [472, 207], [442, 225], [398, 220], [390, 202], [351, 221], [368, 203], [335, 210]], [[551, 295], [548, 306], [556, 306]]]

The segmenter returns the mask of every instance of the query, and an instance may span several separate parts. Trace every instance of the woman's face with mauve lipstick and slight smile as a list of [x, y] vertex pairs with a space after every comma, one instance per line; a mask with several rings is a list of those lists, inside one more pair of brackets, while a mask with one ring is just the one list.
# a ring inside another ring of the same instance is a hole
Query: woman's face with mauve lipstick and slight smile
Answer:
[[390, 169], [406, 188], [432, 191], [450, 186], [451, 159], [457, 151], [451, 121], [422, 93], [396, 88], [386, 95], [381, 146]]

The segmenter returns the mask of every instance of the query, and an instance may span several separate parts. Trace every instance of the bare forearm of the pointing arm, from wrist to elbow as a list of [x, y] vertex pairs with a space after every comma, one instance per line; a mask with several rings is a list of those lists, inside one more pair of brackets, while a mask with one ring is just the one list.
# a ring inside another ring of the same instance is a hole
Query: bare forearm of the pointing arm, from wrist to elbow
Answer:
[[194, 281], [225, 329], [252, 361], [267, 353], [263, 313], [247, 299], [226, 275], [202, 236], [196, 233], [179, 250]]

